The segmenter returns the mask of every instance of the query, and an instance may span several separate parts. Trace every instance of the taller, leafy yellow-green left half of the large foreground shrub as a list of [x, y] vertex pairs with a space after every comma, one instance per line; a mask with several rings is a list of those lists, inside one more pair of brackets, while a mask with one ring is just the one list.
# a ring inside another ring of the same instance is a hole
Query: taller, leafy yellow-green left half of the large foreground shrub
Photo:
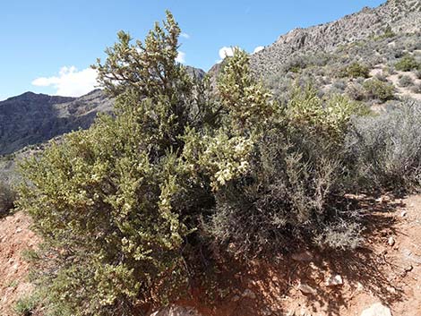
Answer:
[[115, 117], [99, 117], [21, 166], [19, 204], [44, 239], [37, 283], [53, 312], [129, 315], [185, 284], [183, 245], [194, 212], [213, 200], [209, 183], [191, 180], [181, 136], [216, 115], [175, 62], [179, 32], [170, 13], [144, 44], [119, 32], [96, 65], [116, 98]]

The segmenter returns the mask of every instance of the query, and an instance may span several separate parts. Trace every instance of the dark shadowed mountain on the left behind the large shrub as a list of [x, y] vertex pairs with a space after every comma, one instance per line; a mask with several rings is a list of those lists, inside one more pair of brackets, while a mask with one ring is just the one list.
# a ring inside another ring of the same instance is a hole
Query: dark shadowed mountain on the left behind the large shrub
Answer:
[[99, 112], [109, 112], [112, 100], [101, 90], [81, 98], [23, 93], [0, 102], [0, 155], [48, 141], [65, 132], [86, 129]]

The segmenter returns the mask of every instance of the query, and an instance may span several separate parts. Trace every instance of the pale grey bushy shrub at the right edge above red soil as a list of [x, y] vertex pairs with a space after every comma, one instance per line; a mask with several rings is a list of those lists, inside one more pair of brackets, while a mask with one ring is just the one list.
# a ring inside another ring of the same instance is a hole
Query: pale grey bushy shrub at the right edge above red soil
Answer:
[[409, 102], [378, 116], [358, 117], [348, 150], [362, 187], [405, 191], [421, 184], [421, 104]]

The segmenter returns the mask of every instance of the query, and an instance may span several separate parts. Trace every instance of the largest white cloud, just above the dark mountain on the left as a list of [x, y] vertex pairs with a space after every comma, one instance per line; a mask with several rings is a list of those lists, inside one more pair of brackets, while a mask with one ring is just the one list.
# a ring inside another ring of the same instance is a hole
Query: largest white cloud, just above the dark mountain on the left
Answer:
[[32, 85], [38, 87], [54, 87], [56, 95], [64, 97], [80, 97], [97, 85], [98, 73], [91, 68], [78, 71], [75, 66], [62, 67], [57, 76], [40, 77], [32, 81]]

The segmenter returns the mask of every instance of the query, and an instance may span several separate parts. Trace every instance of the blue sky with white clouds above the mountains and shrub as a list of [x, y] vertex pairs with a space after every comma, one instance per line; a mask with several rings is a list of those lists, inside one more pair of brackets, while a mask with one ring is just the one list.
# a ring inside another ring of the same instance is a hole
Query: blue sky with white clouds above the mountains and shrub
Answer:
[[31, 90], [81, 95], [89, 69], [118, 30], [144, 38], [174, 13], [185, 64], [208, 70], [221, 47], [270, 45], [279, 35], [377, 6], [384, 0], [13, 0], [0, 4], [0, 100]]

